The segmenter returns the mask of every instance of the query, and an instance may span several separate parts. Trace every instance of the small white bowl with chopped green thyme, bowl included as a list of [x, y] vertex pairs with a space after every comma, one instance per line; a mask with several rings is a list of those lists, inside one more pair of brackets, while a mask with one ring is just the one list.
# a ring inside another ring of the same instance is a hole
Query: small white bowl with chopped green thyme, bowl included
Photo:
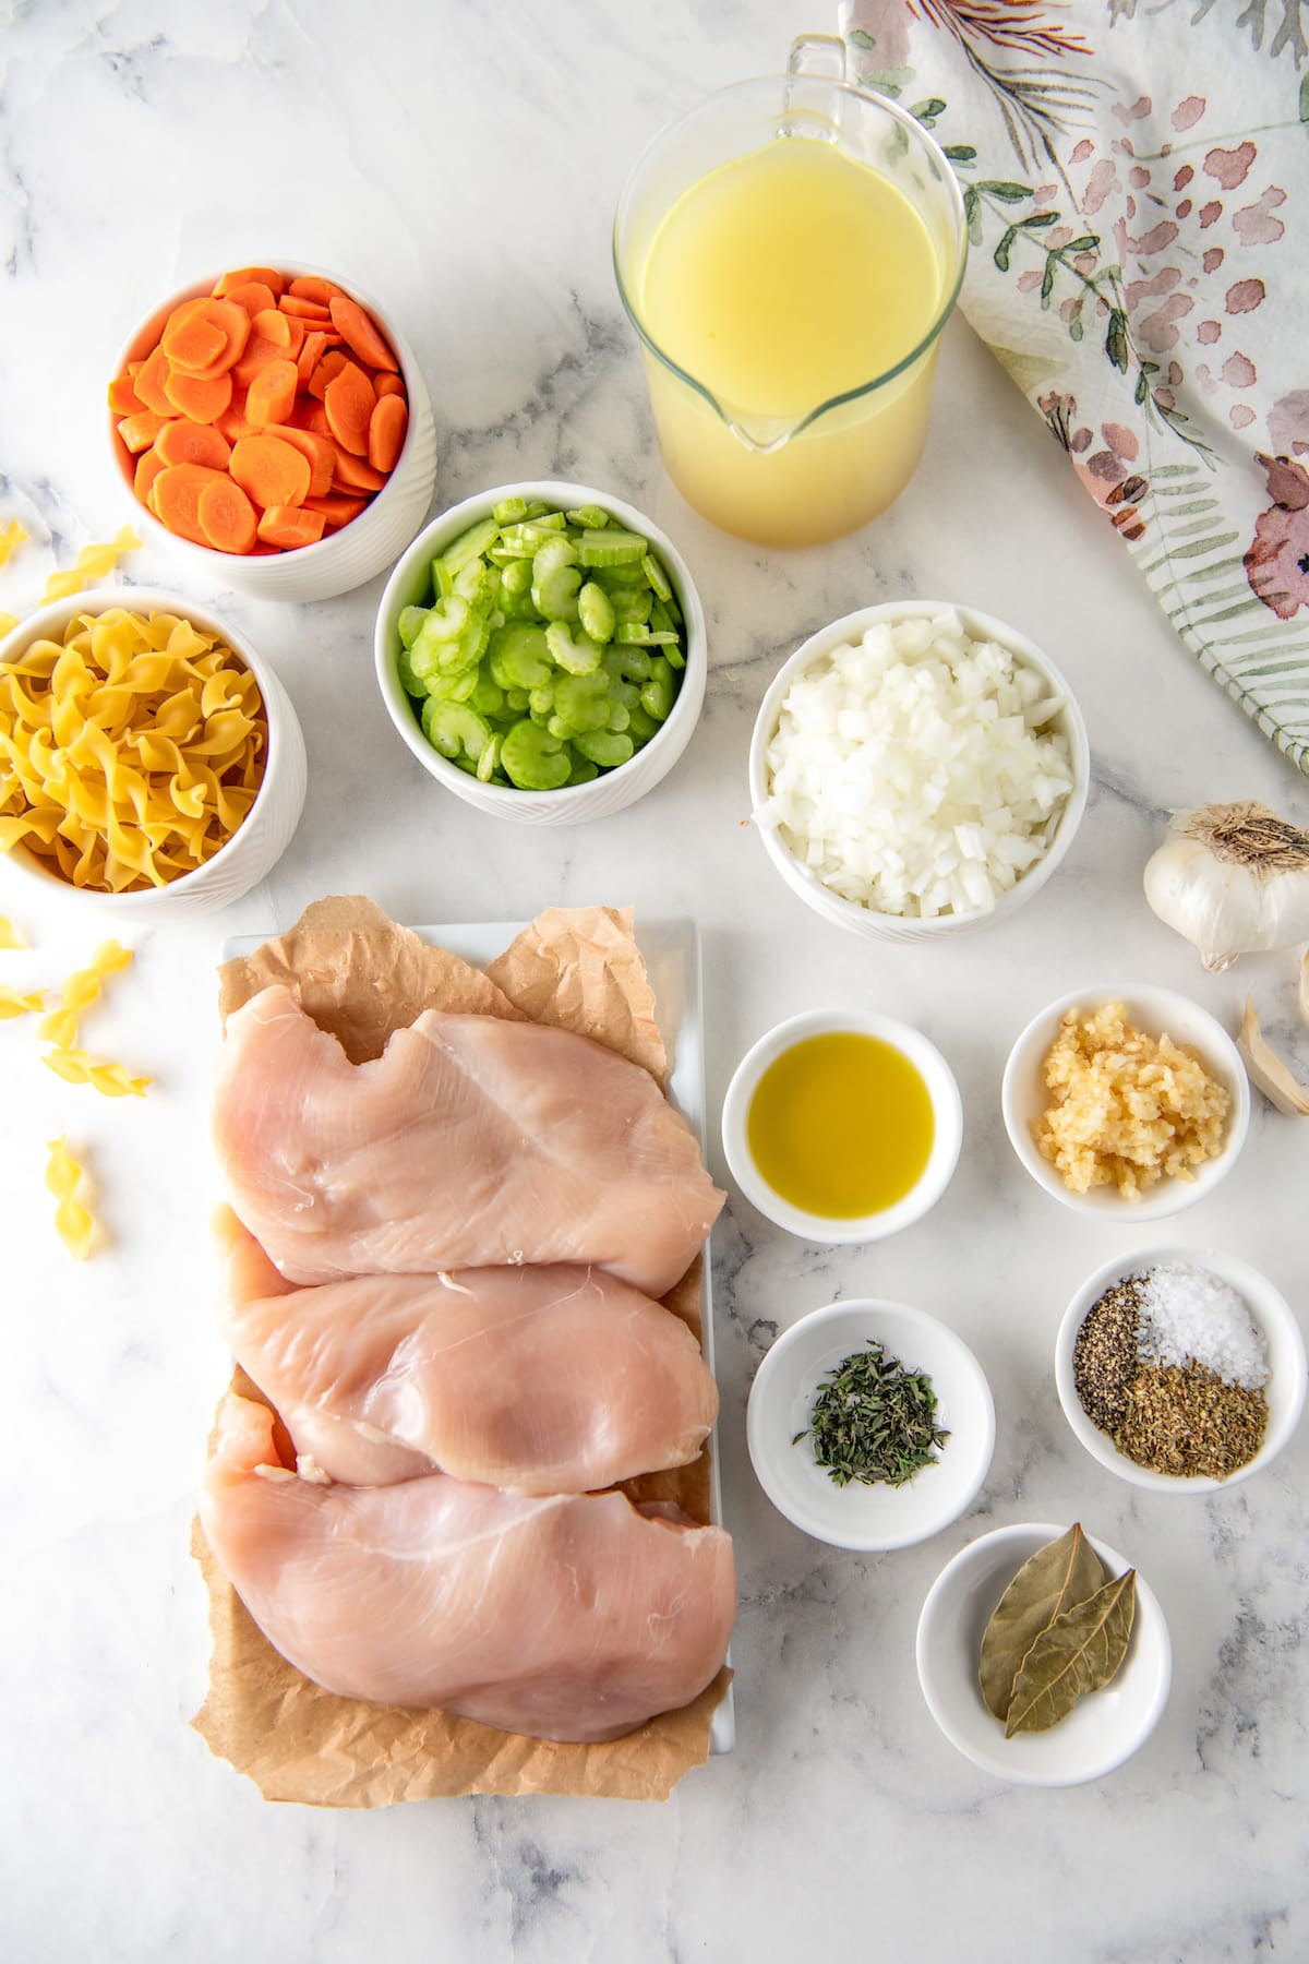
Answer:
[[773, 1506], [836, 1548], [909, 1548], [971, 1504], [995, 1406], [968, 1343], [922, 1310], [828, 1302], [777, 1337], [746, 1416]]

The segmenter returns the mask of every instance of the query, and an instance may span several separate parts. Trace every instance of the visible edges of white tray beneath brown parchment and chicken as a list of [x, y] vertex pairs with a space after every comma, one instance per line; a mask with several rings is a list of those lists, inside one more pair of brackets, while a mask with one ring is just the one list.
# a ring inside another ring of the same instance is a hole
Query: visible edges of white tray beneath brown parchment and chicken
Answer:
[[[461, 955], [465, 962], [485, 968], [497, 955], [502, 955], [514, 935], [522, 933], [528, 921], [455, 921], [438, 927], [416, 927], [422, 935], [451, 955]], [[269, 935], [236, 935], [224, 947], [224, 960], [237, 955], [253, 955]], [[681, 1116], [691, 1125], [705, 1153], [705, 980], [701, 964], [701, 931], [695, 921], [640, 921], [636, 943], [646, 962], [646, 974], [655, 998], [655, 1019], [667, 1047], [669, 1076], [667, 1092]], [[705, 1363], [714, 1369], [714, 1314], [710, 1294], [708, 1249], [701, 1269], [701, 1341]], [[714, 1373], [716, 1375], [716, 1373]], [[718, 1479], [718, 1434], [710, 1434], [708, 1457], [708, 1512], [716, 1528], [722, 1526], [722, 1483]], [[728, 1652], [728, 1664], [732, 1656]], [[728, 1685], [722, 1705], [714, 1713], [708, 1746], [710, 1752], [732, 1752], [736, 1744], [736, 1699]]]

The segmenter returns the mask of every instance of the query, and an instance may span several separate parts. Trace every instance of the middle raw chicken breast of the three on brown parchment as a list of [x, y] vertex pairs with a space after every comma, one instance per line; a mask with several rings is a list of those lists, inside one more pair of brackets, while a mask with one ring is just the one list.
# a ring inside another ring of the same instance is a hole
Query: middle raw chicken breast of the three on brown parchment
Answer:
[[587, 1493], [695, 1459], [718, 1391], [687, 1326], [602, 1269], [283, 1281], [224, 1208], [220, 1324], [296, 1451], [357, 1487], [453, 1473]]

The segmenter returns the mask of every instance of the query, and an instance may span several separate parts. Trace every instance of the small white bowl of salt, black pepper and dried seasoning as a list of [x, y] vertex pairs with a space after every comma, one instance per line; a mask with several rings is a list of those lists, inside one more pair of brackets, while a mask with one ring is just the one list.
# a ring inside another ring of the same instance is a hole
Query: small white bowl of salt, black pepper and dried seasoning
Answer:
[[[1236, 1255], [1142, 1249], [1107, 1261], [1068, 1304], [1054, 1381], [1075, 1438], [1119, 1479], [1215, 1493], [1266, 1467], [1295, 1432], [1305, 1339], [1285, 1296]], [[1201, 1457], [1191, 1414], [1209, 1471], [1185, 1469]]]

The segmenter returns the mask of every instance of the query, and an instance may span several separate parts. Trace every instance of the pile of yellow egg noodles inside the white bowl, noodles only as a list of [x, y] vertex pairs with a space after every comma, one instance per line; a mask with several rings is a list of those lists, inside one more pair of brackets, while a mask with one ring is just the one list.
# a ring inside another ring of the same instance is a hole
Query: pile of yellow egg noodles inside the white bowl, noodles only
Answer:
[[100, 894], [210, 860], [263, 782], [259, 683], [179, 615], [75, 615], [0, 662], [0, 850]]

